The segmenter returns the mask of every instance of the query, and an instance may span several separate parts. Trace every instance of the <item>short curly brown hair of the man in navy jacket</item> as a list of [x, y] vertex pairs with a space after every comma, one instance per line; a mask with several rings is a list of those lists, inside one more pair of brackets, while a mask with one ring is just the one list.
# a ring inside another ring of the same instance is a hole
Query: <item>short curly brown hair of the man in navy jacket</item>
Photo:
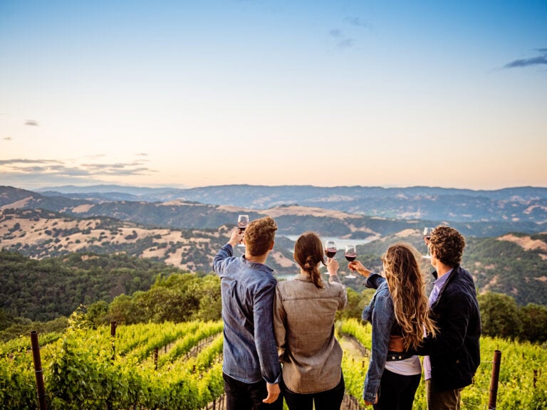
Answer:
[[464, 236], [450, 226], [439, 225], [431, 233], [429, 249], [446, 266], [458, 266], [462, 261], [464, 248]]

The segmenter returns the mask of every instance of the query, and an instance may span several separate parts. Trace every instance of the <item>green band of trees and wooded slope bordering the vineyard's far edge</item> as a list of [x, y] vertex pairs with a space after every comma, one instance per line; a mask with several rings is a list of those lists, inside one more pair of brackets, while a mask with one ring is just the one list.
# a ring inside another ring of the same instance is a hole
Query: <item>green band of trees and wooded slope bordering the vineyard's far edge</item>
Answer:
[[[213, 274], [184, 273], [162, 263], [124, 255], [73, 254], [62, 260], [34, 261], [19, 253], [0, 251], [0, 266], [0, 341], [30, 330], [62, 330], [66, 317], [80, 307], [95, 325], [113, 320], [134, 324], [221, 318], [220, 283]], [[24, 291], [10, 288], [17, 281], [29, 283], [25, 275], [38, 267], [39, 280]], [[46, 283], [53, 288], [46, 289]], [[70, 283], [78, 286], [69, 291]], [[348, 287], [348, 307], [338, 312], [338, 319], [360, 320], [373, 293], [372, 289]], [[545, 305], [519, 306], [509, 295], [484, 293], [479, 295], [479, 307], [484, 335], [547, 342]]]

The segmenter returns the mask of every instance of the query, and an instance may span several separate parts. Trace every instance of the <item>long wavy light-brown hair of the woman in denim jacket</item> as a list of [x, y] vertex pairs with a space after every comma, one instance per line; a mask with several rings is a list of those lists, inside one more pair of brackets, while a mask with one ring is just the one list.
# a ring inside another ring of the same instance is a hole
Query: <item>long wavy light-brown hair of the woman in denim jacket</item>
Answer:
[[437, 326], [428, 315], [425, 280], [417, 262], [417, 251], [408, 243], [394, 243], [384, 256], [385, 278], [390, 288], [395, 320], [402, 328], [405, 350], [422, 344], [424, 330], [436, 335]]

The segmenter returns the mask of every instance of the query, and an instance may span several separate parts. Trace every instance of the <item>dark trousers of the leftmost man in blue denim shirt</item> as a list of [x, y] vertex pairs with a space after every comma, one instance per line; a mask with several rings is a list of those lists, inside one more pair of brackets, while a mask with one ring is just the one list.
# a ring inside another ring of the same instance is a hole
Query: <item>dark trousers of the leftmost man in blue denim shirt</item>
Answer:
[[226, 410], [281, 410], [283, 409], [283, 392], [272, 404], [263, 403], [268, 396], [266, 382], [244, 383], [222, 373], [224, 392], [226, 393]]

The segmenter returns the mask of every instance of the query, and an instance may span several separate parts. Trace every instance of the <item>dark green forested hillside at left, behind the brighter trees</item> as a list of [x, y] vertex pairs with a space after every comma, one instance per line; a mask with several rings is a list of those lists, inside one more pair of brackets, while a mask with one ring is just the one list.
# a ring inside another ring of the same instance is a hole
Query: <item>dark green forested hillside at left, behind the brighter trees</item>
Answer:
[[124, 254], [72, 253], [41, 261], [0, 251], [0, 308], [13, 317], [52, 320], [80, 304], [149, 290], [159, 275], [180, 272], [150, 259]]

